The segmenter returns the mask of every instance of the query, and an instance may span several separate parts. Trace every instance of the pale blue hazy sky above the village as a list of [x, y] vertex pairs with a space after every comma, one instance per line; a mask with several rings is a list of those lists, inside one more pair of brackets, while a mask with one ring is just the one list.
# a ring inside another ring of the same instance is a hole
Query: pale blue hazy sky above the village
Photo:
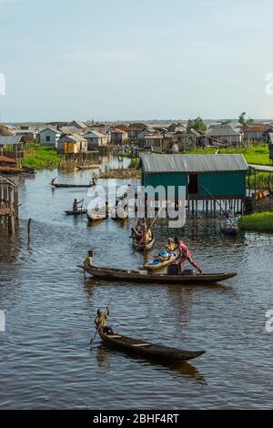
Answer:
[[0, 0], [0, 121], [273, 119], [272, 15], [272, 0]]

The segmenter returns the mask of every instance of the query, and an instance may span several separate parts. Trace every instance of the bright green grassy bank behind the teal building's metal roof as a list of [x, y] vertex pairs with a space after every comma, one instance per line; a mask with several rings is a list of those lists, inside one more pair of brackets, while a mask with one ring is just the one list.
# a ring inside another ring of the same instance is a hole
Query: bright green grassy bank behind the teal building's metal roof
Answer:
[[[203, 155], [212, 155], [216, 152], [217, 148], [198, 148], [197, 150], [188, 151], [188, 154], [198, 153]], [[244, 155], [249, 164], [257, 165], [270, 165], [269, 150], [267, 144], [260, 144], [258, 146], [251, 146], [248, 148], [219, 148], [221, 154], [234, 154]]]

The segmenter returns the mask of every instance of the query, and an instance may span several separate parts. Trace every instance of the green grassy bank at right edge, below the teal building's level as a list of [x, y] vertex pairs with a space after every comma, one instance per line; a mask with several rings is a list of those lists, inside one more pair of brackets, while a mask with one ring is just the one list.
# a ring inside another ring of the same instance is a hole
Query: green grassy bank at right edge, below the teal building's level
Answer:
[[239, 220], [239, 227], [242, 230], [273, 232], [273, 211], [257, 212], [243, 216]]

